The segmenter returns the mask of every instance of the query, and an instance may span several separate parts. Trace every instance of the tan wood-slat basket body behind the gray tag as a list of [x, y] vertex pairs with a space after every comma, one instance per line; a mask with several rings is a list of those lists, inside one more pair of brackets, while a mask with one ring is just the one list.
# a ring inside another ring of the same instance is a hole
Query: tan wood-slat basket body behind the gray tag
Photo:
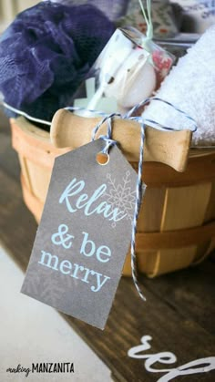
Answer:
[[[11, 127], [24, 200], [39, 222], [54, 159], [69, 149], [54, 148], [46, 131], [23, 118], [12, 119]], [[154, 277], [202, 261], [215, 248], [215, 150], [190, 150], [183, 173], [146, 162], [143, 179], [148, 188], [138, 218], [139, 271]], [[130, 275], [129, 254], [123, 273]]]

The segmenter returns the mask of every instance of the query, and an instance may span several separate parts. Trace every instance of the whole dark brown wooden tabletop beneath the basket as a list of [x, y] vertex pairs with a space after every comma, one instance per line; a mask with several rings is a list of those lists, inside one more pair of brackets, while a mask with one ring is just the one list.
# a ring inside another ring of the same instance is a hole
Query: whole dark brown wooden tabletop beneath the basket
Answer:
[[[19, 165], [10, 148], [8, 127], [0, 128], [0, 240], [23, 271], [36, 234], [36, 222], [22, 200]], [[105, 331], [64, 315], [67, 322], [110, 368], [113, 379], [128, 382], [158, 381], [167, 373], [152, 373], [145, 359], [128, 356], [142, 336], [151, 336], [151, 348], [142, 354], [171, 352], [176, 364], [152, 367], [170, 369], [195, 359], [215, 356], [215, 256], [198, 267], [149, 280], [140, 277], [147, 303], [138, 298], [131, 279], [122, 277]], [[215, 372], [173, 380], [215, 381]]]

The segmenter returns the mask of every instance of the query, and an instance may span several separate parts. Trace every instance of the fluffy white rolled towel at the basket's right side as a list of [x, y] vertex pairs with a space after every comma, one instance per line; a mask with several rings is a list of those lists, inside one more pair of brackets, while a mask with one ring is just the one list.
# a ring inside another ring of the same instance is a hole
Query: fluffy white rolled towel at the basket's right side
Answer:
[[[198, 129], [193, 134], [192, 145], [215, 145], [215, 25], [179, 59], [156, 96], [196, 120]], [[159, 101], [152, 101], [143, 116], [176, 129], [192, 127], [189, 119]]]

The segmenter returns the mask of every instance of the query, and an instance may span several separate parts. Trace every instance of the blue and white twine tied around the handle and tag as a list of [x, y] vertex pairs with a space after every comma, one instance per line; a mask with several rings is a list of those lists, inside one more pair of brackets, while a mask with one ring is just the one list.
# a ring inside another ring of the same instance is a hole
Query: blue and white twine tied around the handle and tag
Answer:
[[[97, 130], [101, 127], [101, 125], [105, 122], [107, 122], [107, 135], [106, 136], [100, 136], [100, 139], [104, 139], [106, 142], [106, 146], [102, 150], [103, 153], [109, 155], [109, 150], [111, 147], [116, 145], [118, 142], [114, 139], [112, 139], [112, 120], [116, 117], [120, 119], [130, 119], [130, 120], [136, 120], [140, 125], [140, 145], [139, 145], [139, 160], [138, 160], [138, 179], [137, 179], [137, 187], [136, 187], [136, 202], [135, 202], [135, 212], [133, 216], [133, 223], [132, 223], [132, 232], [131, 232], [131, 244], [130, 244], [130, 253], [131, 253], [131, 272], [132, 272], [132, 278], [133, 282], [136, 286], [136, 289], [138, 291], [138, 294], [140, 298], [143, 301], [146, 301], [146, 297], [141, 291], [141, 288], [138, 284], [138, 274], [137, 274], [137, 258], [136, 258], [136, 233], [137, 233], [137, 225], [138, 225], [138, 213], [140, 209], [140, 205], [142, 202], [143, 195], [146, 191], [146, 185], [142, 182], [142, 168], [143, 168], [143, 159], [144, 159], [144, 140], [145, 140], [145, 128], [146, 125], [149, 124], [152, 125], [155, 129], [161, 129], [161, 130], [169, 130], [169, 131], [179, 131], [179, 129], [169, 128], [167, 126], [161, 125], [159, 122], [153, 120], [153, 119], [143, 119], [142, 117], [132, 117], [132, 115], [138, 110], [138, 108], [147, 105], [150, 101], [157, 100], [160, 102], [163, 102], [167, 105], [169, 105], [171, 108], [175, 108], [179, 113], [183, 114], [187, 119], [190, 119], [193, 122], [194, 128], [191, 130], [192, 132], [195, 132], [197, 130], [197, 124], [194, 119], [189, 117], [188, 114], [186, 114], [184, 111], [180, 110], [179, 108], [176, 108], [174, 105], [172, 105], [169, 101], [166, 101], [161, 98], [152, 97], [152, 98], [146, 98], [142, 102], [138, 103], [134, 108], [131, 108], [128, 113], [126, 113], [124, 116], [122, 116], [120, 113], [112, 113], [110, 115], [107, 115], [107, 113], [97, 111], [97, 110], [89, 110], [86, 108], [78, 108], [78, 107], [67, 107], [66, 110], [71, 111], [89, 111], [94, 114], [97, 114], [99, 116], [103, 116], [104, 118], [97, 124], [95, 129], [93, 129], [92, 132], [92, 140], [96, 138]], [[42, 119], [36, 119], [32, 116], [29, 116], [25, 112], [18, 110], [16, 108], [11, 107], [10, 105], [6, 104], [4, 101], [1, 102], [2, 105], [5, 108], [8, 108], [12, 111], [14, 111], [16, 114], [20, 114], [26, 119], [36, 121], [42, 124], [46, 124], [48, 126], [51, 126], [51, 122], [42, 120]]]

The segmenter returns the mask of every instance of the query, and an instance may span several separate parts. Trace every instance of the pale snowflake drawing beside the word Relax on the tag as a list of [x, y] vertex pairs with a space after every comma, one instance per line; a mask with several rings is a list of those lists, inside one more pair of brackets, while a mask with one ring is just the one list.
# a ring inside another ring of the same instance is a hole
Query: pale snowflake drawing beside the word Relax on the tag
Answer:
[[[107, 174], [109, 190], [104, 194], [107, 197], [107, 202], [111, 204], [112, 208], [118, 208], [121, 212], [126, 213], [127, 220], [133, 221], [134, 206], [136, 201], [136, 190], [131, 190], [130, 187], [130, 171], [126, 172], [122, 183], [118, 183], [115, 179]], [[112, 227], [116, 226], [116, 222]]]

